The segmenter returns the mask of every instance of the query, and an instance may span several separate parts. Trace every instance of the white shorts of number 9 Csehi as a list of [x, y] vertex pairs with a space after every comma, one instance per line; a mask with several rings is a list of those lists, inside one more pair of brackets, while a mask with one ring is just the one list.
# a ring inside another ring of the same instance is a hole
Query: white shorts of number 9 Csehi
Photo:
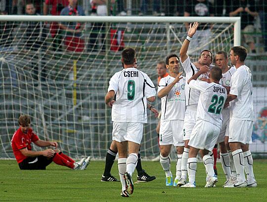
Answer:
[[143, 123], [113, 122], [112, 140], [117, 142], [131, 141], [141, 143]]

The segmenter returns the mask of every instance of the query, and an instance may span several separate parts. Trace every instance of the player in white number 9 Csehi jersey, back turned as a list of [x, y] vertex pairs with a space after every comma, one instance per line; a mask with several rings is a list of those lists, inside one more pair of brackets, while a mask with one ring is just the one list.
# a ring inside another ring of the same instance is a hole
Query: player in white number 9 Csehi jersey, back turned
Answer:
[[147, 74], [134, 67], [136, 58], [133, 48], [122, 51], [121, 61], [124, 69], [111, 77], [105, 102], [112, 106], [112, 140], [118, 148], [121, 196], [129, 197], [134, 192], [132, 174], [138, 160], [143, 123], [147, 123], [147, 101], [155, 101], [156, 91]]

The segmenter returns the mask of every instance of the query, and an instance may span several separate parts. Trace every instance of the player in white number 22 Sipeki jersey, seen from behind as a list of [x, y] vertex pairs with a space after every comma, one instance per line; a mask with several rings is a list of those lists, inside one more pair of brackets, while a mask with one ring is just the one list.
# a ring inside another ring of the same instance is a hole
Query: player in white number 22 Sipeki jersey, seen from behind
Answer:
[[208, 66], [202, 66], [189, 80], [189, 88], [200, 91], [196, 124], [192, 130], [188, 145], [189, 158], [187, 160], [187, 170], [189, 182], [181, 187], [196, 187], [195, 175], [197, 169], [196, 156], [200, 149], [205, 168], [209, 179], [205, 187], [213, 187], [218, 181], [213, 169], [213, 159], [209, 155], [217, 142], [222, 127], [222, 109], [227, 98], [226, 89], [219, 84], [222, 78], [222, 70], [219, 67], [213, 67], [210, 70], [210, 81], [197, 81], [202, 73], [209, 72]]

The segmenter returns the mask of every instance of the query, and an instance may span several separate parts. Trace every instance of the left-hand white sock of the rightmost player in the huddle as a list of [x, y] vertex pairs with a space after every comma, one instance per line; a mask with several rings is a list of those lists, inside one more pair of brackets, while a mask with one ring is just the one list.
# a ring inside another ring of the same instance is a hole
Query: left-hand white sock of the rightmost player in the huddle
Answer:
[[236, 168], [237, 181], [244, 182], [246, 181], [244, 174], [244, 154], [242, 149], [237, 149], [232, 152], [233, 161]]

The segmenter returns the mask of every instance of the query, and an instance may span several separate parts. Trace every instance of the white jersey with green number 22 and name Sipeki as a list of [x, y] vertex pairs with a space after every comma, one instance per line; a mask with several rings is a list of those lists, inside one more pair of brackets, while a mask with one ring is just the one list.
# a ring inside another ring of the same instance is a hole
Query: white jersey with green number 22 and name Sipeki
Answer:
[[217, 83], [191, 80], [189, 88], [200, 91], [197, 119], [208, 121], [222, 128], [222, 109], [227, 98], [226, 89]]

